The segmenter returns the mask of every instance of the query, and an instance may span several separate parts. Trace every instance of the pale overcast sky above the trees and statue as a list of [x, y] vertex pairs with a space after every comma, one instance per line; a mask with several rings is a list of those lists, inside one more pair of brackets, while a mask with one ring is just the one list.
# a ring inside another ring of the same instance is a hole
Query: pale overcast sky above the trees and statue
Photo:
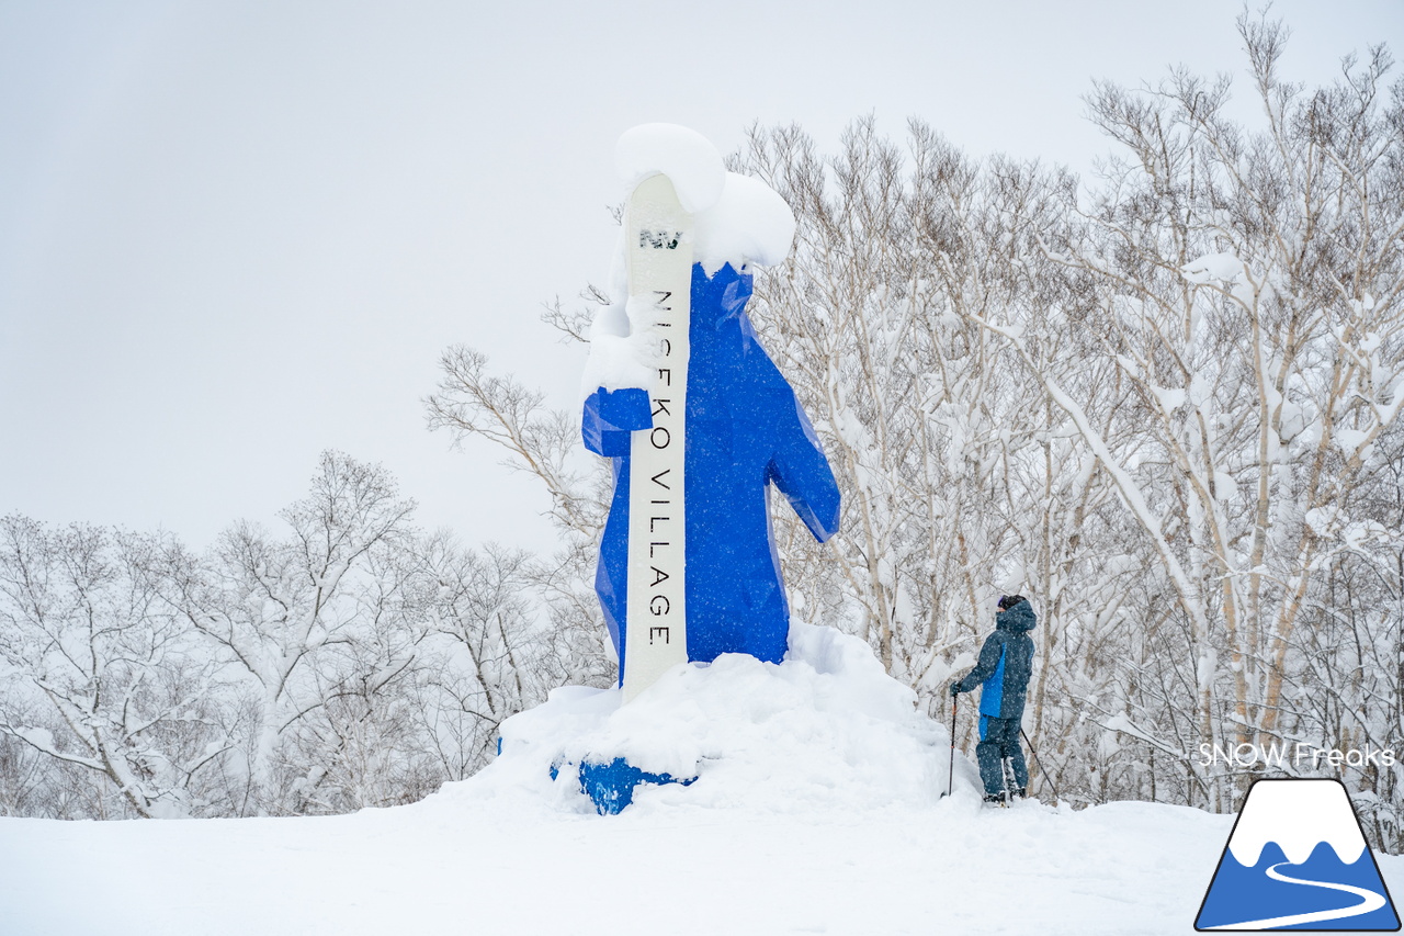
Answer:
[[[608, 273], [614, 142], [734, 149], [873, 112], [1085, 170], [1095, 77], [1237, 76], [1228, 0], [70, 3], [0, 0], [0, 514], [272, 523], [317, 454], [385, 464], [427, 527], [553, 541], [545, 495], [449, 451], [453, 343], [573, 406], [542, 304]], [[1289, 77], [1404, 55], [1401, 0], [1279, 0]]]

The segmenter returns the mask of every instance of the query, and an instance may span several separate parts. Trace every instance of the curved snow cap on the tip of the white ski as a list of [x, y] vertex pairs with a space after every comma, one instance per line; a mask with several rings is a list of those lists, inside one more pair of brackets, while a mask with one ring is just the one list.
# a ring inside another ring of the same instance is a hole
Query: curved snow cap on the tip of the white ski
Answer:
[[726, 166], [712, 141], [677, 124], [643, 124], [625, 131], [615, 143], [615, 169], [626, 191], [649, 176], [667, 176], [689, 214], [716, 204], [726, 184]]

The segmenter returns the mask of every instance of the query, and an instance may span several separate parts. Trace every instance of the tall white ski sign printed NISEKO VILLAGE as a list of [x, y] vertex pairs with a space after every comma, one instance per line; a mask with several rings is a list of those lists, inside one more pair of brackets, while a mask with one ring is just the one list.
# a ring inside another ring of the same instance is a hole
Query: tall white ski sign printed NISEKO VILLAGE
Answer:
[[682, 464], [692, 297], [692, 215], [667, 176], [644, 178], [625, 208], [629, 325], [656, 354], [653, 427], [629, 455], [629, 572], [623, 701], [688, 661]]

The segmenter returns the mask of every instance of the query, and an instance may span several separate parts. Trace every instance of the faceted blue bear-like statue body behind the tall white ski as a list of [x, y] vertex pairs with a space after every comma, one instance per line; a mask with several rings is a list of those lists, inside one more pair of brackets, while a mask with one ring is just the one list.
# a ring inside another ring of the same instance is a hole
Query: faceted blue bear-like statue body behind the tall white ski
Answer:
[[[687, 651], [689, 661], [785, 656], [789, 603], [767, 512], [775, 483], [823, 542], [838, 531], [838, 485], [789, 382], [746, 315], [751, 274], [692, 266], [687, 381]], [[614, 500], [595, 592], [623, 682], [630, 431], [653, 424], [644, 389], [597, 389], [585, 401], [585, 446], [614, 460]]]

